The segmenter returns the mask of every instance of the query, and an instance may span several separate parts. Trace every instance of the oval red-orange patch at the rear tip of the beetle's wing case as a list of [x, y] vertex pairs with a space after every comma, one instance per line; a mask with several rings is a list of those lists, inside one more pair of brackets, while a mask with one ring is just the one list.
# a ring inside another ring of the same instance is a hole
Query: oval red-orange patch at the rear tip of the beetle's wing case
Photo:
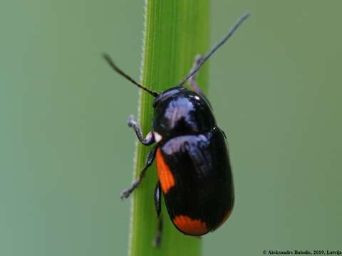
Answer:
[[172, 222], [175, 223], [177, 228], [188, 235], [204, 235], [209, 231], [204, 222], [201, 220], [193, 220], [186, 215], [178, 215]]

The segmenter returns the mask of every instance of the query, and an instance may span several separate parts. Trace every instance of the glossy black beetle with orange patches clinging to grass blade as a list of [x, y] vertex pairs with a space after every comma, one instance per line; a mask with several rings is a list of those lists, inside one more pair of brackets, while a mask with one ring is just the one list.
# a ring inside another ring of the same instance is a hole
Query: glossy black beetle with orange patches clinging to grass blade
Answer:
[[[249, 13], [241, 16], [222, 41], [203, 57], [195, 58], [185, 78], [164, 92], [157, 93], [140, 85], [120, 70], [109, 55], [103, 55], [113, 70], [155, 97], [152, 131], [145, 138], [133, 117], [128, 120], [128, 126], [134, 129], [142, 144], [156, 145], [147, 155], [138, 178], [123, 191], [121, 198], [130, 196], [156, 160], [158, 181], [154, 199], [159, 219], [156, 245], [161, 238], [162, 196], [172, 223], [185, 235], [201, 236], [213, 231], [232, 213], [234, 185], [226, 136], [217, 126], [212, 107], [195, 77], [205, 61], [248, 17]], [[185, 88], [187, 80], [192, 90]]]

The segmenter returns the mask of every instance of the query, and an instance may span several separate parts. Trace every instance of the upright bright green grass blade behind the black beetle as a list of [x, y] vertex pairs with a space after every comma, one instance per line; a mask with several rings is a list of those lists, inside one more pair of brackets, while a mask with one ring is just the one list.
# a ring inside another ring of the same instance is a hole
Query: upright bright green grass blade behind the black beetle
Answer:
[[[208, 0], [148, 0], [145, 2], [145, 34], [142, 55], [142, 85], [161, 92], [180, 82], [192, 68], [197, 53], [209, 49]], [[201, 89], [207, 92], [207, 65], [197, 78]], [[152, 129], [152, 100], [140, 92], [139, 122], [144, 134]], [[135, 177], [145, 164], [151, 147], [138, 144], [135, 156]], [[201, 240], [183, 235], [170, 222], [162, 207], [163, 234], [160, 248], [152, 247], [157, 230], [153, 191], [157, 175], [153, 165], [133, 194], [130, 227], [130, 255], [187, 255], [201, 254]]]

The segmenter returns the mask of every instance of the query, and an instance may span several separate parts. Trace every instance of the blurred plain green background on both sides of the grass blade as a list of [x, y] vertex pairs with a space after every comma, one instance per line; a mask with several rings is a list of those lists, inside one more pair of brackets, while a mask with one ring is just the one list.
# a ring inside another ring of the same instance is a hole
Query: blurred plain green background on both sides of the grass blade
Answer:
[[[341, 250], [342, 2], [212, 1], [236, 206], [204, 255]], [[0, 255], [126, 255], [142, 1], [0, 4]], [[145, 131], [146, 132], [146, 131]], [[151, 191], [152, 200], [152, 191]]]

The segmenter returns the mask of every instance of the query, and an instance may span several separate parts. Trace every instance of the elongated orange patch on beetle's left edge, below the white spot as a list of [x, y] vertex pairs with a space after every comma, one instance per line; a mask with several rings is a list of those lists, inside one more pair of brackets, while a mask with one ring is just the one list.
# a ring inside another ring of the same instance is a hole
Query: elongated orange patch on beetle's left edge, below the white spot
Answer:
[[169, 166], [164, 161], [162, 154], [160, 153], [160, 149], [157, 149], [157, 171], [160, 181], [160, 186], [162, 186], [162, 192], [167, 193], [170, 188], [175, 186], [175, 178], [170, 171]]

